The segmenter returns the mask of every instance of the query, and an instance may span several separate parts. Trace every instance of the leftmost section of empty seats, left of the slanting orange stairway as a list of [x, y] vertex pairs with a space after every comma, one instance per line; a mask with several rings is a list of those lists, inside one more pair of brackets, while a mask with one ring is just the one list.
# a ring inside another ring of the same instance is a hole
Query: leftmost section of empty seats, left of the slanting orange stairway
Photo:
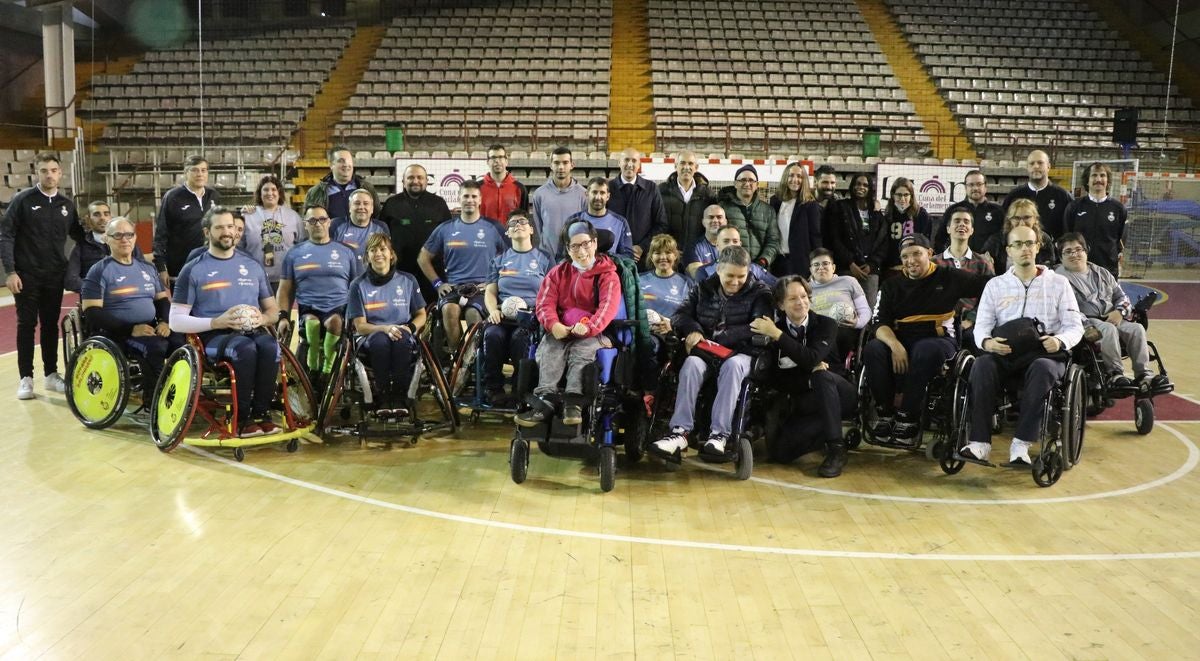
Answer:
[[[282, 144], [353, 36], [349, 25], [257, 31], [204, 43], [204, 140]], [[199, 54], [154, 50], [124, 76], [97, 76], [83, 112], [120, 144], [200, 142]]]

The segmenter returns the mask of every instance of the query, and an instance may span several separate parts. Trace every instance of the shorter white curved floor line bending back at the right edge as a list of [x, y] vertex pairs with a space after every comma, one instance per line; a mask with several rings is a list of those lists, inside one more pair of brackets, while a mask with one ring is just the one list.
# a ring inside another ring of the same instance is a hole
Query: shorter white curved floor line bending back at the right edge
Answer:
[[[1162, 427], [1163, 429], [1170, 432], [1180, 443], [1183, 444], [1184, 447], [1188, 449], [1188, 457], [1187, 457], [1187, 459], [1184, 459], [1183, 464], [1180, 465], [1178, 468], [1176, 468], [1171, 474], [1164, 475], [1164, 476], [1158, 477], [1156, 480], [1151, 480], [1148, 482], [1142, 482], [1140, 485], [1134, 485], [1132, 487], [1120, 488], [1120, 489], [1115, 489], [1115, 491], [1104, 491], [1104, 492], [1099, 492], [1099, 493], [1085, 493], [1085, 494], [1079, 494], [1079, 495], [1060, 495], [1057, 498], [991, 498], [991, 499], [984, 499], [984, 498], [979, 498], [979, 499], [972, 499], [972, 498], [929, 498], [929, 497], [916, 497], [916, 495], [888, 495], [888, 494], [883, 494], [883, 493], [862, 493], [862, 492], [854, 492], [854, 491], [832, 489], [832, 488], [826, 488], [826, 487], [812, 487], [812, 486], [809, 486], [809, 485], [799, 485], [799, 483], [796, 483], [796, 482], [785, 482], [782, 480], [772, 480], [769, 477], [754, 477], [754, 476], [751, 476], [750, 480], [755, 481], [755, 482], [758, 482], [758, 483], [762, 483], [762, 485], [769, 485], [769, 486], [773, 486], [773, 487], [788, 488], [788, 489], [796, 489], [796, 491], [808, 491], [808, 492], [812, 492], [812, 493], [820, 493], [820, 494], [823, 494], [823, 495], [841, 495], [841, 497], [845, 497], [845, 498], [862, 498], [864, 500], [886, 500], [886, 501], [889, 501], [889, 503], [922, 503], [922, 504], [934, 504], [934, 505], [1049, 505], [1049, 504], [1054, 504], [1054, 503], [1080, 503], [1080, 501], [1084, 501], [1084, 500], [1099, 500], [1102, 498], [1116, 498], [1118, 495], [1129, 495], [1132, 493], [1139, 493], [1139, 492], [1142, 492], [1142, 491], [1148, 491], [1148, 489], [1152, 489], [1152, 488], [1156, 488], [1156, 487], [1160, 487], [1160, 486], [1163, 486], [1165, 483], [1174, 482], [1175, 480], [1178, 480], [1180, 477], [1182, 477], [1182, 476], [1187, 475], [1188, 473], [1195, 470], [1196, 464], [1200, 463], [1200, 447], [1196, 447], [1195, 443], [1193, 443], [1192, 439], [1189, 439], [1188, 437], [1186, 437], [1178, 429], [1175, 429], [1170, 425], [1166, 425], [1165, 422], [1159, 422], [1158, 426]], [[692, 464], [695, 464], [695, 465], [697, 465], [700, 468], [703, 468], [706, 470], [713, 470], [713, 471], [718, 471], [718, 473], [724, 473], [725, 471], [720, 467], [708, 465], [708, 464], [706, 464], [703, 462], [700, 462], [700, 461], [696, 461], [696, 459], [688, 459], [688, 461], [689, 461], [689, 463], [692, 463]], [[1086, 439], [1085, 439], [1085, 443], [1084, 443], [1084, 464], [1082, 465], [1084, 467], [1087, 465], [1087, 443], [1086, 443]], [[986, 468], [982, 468], [982, 467], [980, 467], [980, 469], [982, 470], [997, 470], [997, 469], [986, 469]], [[1010, 469], [1000, 469], [1000, 470], [1010, 470]], [[1074, 469], [1074, 470], [1078, 470], [1078, 468]], [[1028, 470], [1022, 470], [1022, 473], [1028, 473]], [[1067, 473], [1064, 475], [1070, 475], [1070, 473]], [[947, 477], [953, 479], [954, 476], [947, 476]]]

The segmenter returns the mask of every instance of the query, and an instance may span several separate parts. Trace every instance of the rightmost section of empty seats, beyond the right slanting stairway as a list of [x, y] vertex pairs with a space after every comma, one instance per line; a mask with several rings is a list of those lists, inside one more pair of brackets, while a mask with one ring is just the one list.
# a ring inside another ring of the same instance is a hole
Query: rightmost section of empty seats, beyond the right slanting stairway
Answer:
[[[1166, 79], [1081, 0], [887, 0], [977, 148], [1019, 158], [1030, 145], [1066, 157], [1112, 149], [1112, 113], [1138, 108], [1142, 148], [1163, 136]], [[1172, 124], [1200, 113], [1170, 88]], [[1154, 131], [1158, 128], [1159, 131]]]

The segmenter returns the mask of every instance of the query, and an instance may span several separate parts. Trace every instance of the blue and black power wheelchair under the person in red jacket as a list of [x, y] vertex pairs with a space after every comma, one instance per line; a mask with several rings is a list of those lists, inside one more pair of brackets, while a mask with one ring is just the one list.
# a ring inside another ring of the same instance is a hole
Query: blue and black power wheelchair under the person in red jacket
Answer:
[[[622, 305], [624, 311], [624, 305]], [[620, 317], [623, 314], [619, 314]], [[641, 393], [636, 389], [636, 359], [630, 349], [632, 326], [636, 320], [614, 320], [614, 347], [596, 350], [595, 361], [583, 369], [583, 422], [564, 425], [557, 415], [560, 401], [556, 401], [556, 415], [548, 416], [535, 427], [516, 426], [509, 443], [509, 469], [512, 481], [522, 483], [529, 470], [530, 444], [548, 457], [575, 457], [599, 462], [600, 491], [610, 492], [616, 486], [617, 449], [624, 450], [629, 464], [641, 461], [642, 441], [647, 422]], [[532, 349], [533, 350], [533, 349]], [[517, 366], [517, 385], [514, 397], [523, 398], [533, 392], [538, 380], [538, 365], [524, 359]], [[560, 399], [560, 397], [559, 397]]]

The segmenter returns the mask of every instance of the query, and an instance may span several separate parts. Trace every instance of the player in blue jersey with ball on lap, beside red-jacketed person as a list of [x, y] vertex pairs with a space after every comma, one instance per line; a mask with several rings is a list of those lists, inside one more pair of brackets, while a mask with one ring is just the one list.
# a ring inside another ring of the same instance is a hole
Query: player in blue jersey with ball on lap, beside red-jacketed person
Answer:
[[[488, 326], [484, 330], [484, 389], [493, 407], [508, 405], [504, 393], [504, 363], [529, 355], [530, 330], [514, 323], [517, 317], [505, 317], [502, 307], [510, 298], [524, 302], [526, 316], [533, 314], [538, 289], [553, 262], [545, 251], [533, 245], [533, 224], [523, 209], [509, 212], [508, 236], [512, 247], [496, 258], [492, 274], [484, 290]], [[504, 323], [508, 320], [509, 323]]]

